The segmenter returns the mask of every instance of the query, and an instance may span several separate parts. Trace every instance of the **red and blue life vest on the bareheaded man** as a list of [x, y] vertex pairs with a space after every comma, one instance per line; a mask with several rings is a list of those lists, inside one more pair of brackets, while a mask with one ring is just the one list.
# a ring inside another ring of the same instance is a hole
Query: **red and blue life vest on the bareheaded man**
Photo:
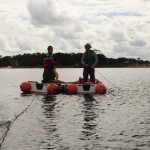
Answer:
[[44, 68], [54, 68], [54, 56], [53, 54], [45, 54], [43, 59]]

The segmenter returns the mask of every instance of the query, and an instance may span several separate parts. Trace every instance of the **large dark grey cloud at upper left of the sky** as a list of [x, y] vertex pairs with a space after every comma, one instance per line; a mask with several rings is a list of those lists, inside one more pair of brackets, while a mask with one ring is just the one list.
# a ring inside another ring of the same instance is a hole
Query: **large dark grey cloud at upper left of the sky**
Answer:
[[55, 2], [52, 0], [29, 1], [28, 10], [32, 23], [36, 26], [60, 26], [70, 22], [71, 17], [69, 17], [65, 10], [60, 11]]

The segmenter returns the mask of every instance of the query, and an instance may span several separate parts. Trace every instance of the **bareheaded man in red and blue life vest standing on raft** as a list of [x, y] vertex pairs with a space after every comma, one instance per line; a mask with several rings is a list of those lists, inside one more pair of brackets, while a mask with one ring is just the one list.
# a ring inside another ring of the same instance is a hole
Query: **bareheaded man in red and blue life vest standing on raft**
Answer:
[[52, 82], [53, 80], [58, 79], [58, 73], [54, 66], [56, 59], [53, 54], [53, 47], [48, 46], [47, 51], [48, 53], [46, 53], [43, 58], [43, 83]]

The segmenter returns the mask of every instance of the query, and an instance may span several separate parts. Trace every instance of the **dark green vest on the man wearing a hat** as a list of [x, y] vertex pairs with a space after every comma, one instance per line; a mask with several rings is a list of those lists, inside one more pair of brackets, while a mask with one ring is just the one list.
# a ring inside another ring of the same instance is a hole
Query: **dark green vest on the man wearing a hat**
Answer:
[[94, 52], [92, 50], [86, 51], [83, 55], [83, 61], [89, 66], [93, 65], [95, 61]]

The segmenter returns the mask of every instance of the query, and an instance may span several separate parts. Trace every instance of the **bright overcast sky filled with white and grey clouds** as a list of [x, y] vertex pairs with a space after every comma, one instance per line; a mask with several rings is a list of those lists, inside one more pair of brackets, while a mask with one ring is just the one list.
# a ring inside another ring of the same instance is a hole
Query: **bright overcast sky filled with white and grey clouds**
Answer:
[[83, 53], [150, 61], [150, 0], [0, 0], [0, 55]]

